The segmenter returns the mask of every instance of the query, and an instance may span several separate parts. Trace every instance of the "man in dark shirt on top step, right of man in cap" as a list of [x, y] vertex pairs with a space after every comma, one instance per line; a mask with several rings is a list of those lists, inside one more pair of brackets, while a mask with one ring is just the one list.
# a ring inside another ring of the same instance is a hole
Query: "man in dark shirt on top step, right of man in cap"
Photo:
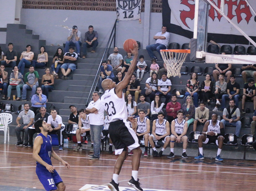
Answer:
[[86, 57], [87, 48], [93, 47], [92, 53], [95, 53], [96, 47], [98, 46], [98, 32], [93, 30], [93, 26], [89, 26], [89, 31], [84, 34], [84, 50], [83, 58]]

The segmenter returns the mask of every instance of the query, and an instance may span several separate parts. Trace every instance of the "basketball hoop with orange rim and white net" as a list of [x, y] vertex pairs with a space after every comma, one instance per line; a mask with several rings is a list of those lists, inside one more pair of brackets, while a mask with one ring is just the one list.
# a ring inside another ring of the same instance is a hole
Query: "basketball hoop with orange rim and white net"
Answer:
[[181, 77], [180, 68], [185, 61], [190, 50], [160, 50], [163, 62], [166, 64], [167, 77]]

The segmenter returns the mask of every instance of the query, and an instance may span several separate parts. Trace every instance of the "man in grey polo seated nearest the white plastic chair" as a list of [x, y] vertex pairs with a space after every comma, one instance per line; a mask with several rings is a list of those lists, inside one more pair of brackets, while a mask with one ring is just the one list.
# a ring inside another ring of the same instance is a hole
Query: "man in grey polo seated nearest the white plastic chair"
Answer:
[[[23, 124], [20, 124], [20, 119], [22, 118]], [[15, 128], [15, 133], [17, 137], [17, 144], [16, 146], [24, 146], [27, 147], [29, 143], [29, 127], [32, 127], [32, 124], [34, 122], [35, 114], [33, 111], [29, 109], [29, 104], [24, 104], [24, 110], [20, 112], [16, 119], [17, 126]], [[20, 131], [24, 131], [24, 145], [22, 143], [21, 137], [20, 137]]]

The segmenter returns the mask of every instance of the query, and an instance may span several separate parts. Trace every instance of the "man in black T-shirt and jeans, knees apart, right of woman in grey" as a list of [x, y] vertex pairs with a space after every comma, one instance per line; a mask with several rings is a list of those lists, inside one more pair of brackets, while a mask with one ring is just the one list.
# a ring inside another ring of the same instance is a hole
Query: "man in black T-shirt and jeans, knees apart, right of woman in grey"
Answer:
[[239, 105], [239, 91], [240, 85], [236, 82], [236, 77], [232, 74], [230, 76], [230, 82], [227, 84], [227, 94], [222, 96], [221, 110], [223, 111], [226, 105], [226, 100], [234, 99], [236, 103], [236, 107]]

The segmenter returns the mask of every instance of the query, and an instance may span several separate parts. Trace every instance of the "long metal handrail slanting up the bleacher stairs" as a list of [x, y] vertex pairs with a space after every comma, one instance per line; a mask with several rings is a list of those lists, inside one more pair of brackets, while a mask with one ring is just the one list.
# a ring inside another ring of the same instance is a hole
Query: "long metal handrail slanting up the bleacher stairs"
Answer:
[[[117, 19], [116, 19], [116, 21], [117, 21]], [[114, 23], [114, 26], [113, 26], [113, 29], [112, 29], [112, 31], [111, 31], [111, 34], [110, 34], [110, 36], [109, 36], [109, 38], [108, 38], [108, 43], [107, 43], [107, 46], [106, 46], [105, 51], [104, 51], [104, 53], [103, 53], [102, 59], [101, 59], [101, 61], [100, 61], [97, 74], [95, 75], [95, 78], [94, 78], [94, 80], [93, 80], [93, 85], [92, 85], [92, 87], [91, 87], [91, 89], [90, 89], [90, 92], [89, 92], [89, 95], [88, 95], [88, 98], [87, 98], [87, 101], [86, 101], [86, 104], [85, 104], [86, 107], [87, 107], [87, 105], [88, 105], [88, 103], [89, 103], [90, 96], [91, 96], [91, 94], [92, 94], [92, 92], [93, 92], [93, 87], [94, 87], [94, 90], [95, 90], [95, 88], [96, 88], [97, 85], [98, 85], [100, 67], [101, 67], [101, 65], [102, 65], [102, 61], [107, 59], [108, 52], [109, 52], [109, 50], [110, 50], [110, 47], [111, 47], [111, 45], [112, 45], [113, 40], [114, 40], [114, 47], [116, 46], [116, 21], [115, 21], [115, 23]], [[113, 34], [113, 37], [112, 37], [112, 34]], [[111, 37], [112, 37], [112, 40], [111, 40]], [[110, 45], [109, 45], [110, 40], [111, 40], [111, 43], [110, 43]], [[108, 47], [108, 45], [109, 45], [109, 47]], [[107, 52], [107, 50], [108, 50], [108, 52]], [[105, 55], [106, 55], [106, 57], [105, 57]], [[104, 59], [104, 57], [105, 57], [105, 59]], [[95, 83], [96, 83], [96, 84], [95, 84]]]

